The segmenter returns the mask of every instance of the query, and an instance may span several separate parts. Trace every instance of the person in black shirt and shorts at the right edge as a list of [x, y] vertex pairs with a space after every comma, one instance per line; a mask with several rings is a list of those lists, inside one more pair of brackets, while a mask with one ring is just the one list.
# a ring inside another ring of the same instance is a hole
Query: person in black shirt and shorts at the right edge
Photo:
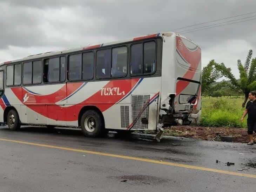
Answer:
[[250, 142], [247, 145], [254, 145], [252, 133], [256, 133], [256, 92], [251, 91], [249, 93], [249, 101], [246, 104], [246, 109], [244, 110], [241, 122], [243, 122], [244, 117], [248, 113], [247, 126]]

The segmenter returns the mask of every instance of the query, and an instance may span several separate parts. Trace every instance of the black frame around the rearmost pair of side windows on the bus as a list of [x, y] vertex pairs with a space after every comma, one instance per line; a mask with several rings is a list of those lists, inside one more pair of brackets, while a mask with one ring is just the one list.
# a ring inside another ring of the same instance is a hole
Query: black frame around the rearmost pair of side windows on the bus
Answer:
[[[150, 42], [155, 42], [155, 70], [154, 72], [152, 73], [143, 73], [143, 69], [144, 69], [144, 44], [145, 43], [150, 43]], [[142, 54], [143, 54], [143, 57], [142, 57], [142, 66], [141, 66], [141, 74], [132, 74], [131, 73], [131, 65], [130, 65], [130, 62], [132, 60], [132, 54], [129, 55], [129, 75], [130, 76], [144, 76], [144, 75], [154, 75], [156, 73], [156, 68], [157, 68], [157, 39], [148, 39], [148, 40], [143, 40], [143, 41], [140, 41], [140, 42], [135, 42], [135, 43], [132, 43], [130, 44], [130, 53], [132, 53], [132, 46], [133, 45], [137, 45], [137, 44], [142, 44]]]

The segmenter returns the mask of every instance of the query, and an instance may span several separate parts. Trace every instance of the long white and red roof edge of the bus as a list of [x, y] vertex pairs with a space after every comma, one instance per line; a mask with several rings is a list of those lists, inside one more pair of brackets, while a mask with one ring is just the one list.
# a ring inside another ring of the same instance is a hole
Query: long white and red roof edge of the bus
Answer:
[[99, 48], [99, 47], [103, 47], [103, 46], [109, 46], [109, 45], [114, 45], [114, 44], [132, 42], [132, 41], [141, 40], [141, 39], [149, 39], [149, 38], [153, 38], [153, 37], [157, 37], [157, 36], [170, 37], [172, 35], [182, 37], [182, 38], [187, 39], [190, 42], [194, 43], [192, 40], [188, 39], [187, 37], [184, 37], [184, 36], [182, 36], [180, 34], [177, 34], [175, 32], [167, 31], [167, 32], [161, 32], [161, 33], [156, 33], [156, 34], [143, 35], [143, 36], [134, 37], [134, 38], [125, 39], [125, 40], [119, 40], [119, 41], [115, 41], [115, 42], [96, 44], [96, 45], [88, 45], [88, 46], [85, 46], [85, 47], [79, 47], [79, 48], [74, 48], [74, 49], [64, 49], [64, 50], [59, 50], [59, 51], [51, 51], [51, 52], [46, 52], [46, 53], [34, 54], [34, 55], [31, 55], [31, 56], [24, 57], [22, 59], [17, 59], [17, 60], [6, 61], [6, 62], [3, 62], [3, 63], [0, 63], [0, 66], [11, 64], [11, 63], [16, 63], [16, 62], [22, 62], [22, 61], [26, 61], [26, 60], [40, 59], [40, 58], [51, 57], [51, 56], [60, 55], [60, 54], [67, 54], [67, 53], [76, 52], [76, 51], [83, 51], [83, 50], [87, 51], [87, 50], [91, 50], [91, 49], [95, 49], [95, 48]]

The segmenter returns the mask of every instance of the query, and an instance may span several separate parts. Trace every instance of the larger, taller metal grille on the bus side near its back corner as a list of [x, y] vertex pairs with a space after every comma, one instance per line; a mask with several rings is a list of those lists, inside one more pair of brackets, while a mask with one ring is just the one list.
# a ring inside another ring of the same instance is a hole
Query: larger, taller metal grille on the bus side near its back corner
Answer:
[[148, 119], [150, 95], [132, 95], [132, 129], [148, 129], [148, 124], [142, 124], [141, 119]]

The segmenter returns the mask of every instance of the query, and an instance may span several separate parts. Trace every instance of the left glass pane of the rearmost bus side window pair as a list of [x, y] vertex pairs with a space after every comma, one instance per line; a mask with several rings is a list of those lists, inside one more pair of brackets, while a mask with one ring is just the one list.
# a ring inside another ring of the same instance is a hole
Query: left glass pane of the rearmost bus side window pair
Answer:
[[131, 74], [140, 75], [142, 73], [143, 44], [132, 45], [131, 49]]

